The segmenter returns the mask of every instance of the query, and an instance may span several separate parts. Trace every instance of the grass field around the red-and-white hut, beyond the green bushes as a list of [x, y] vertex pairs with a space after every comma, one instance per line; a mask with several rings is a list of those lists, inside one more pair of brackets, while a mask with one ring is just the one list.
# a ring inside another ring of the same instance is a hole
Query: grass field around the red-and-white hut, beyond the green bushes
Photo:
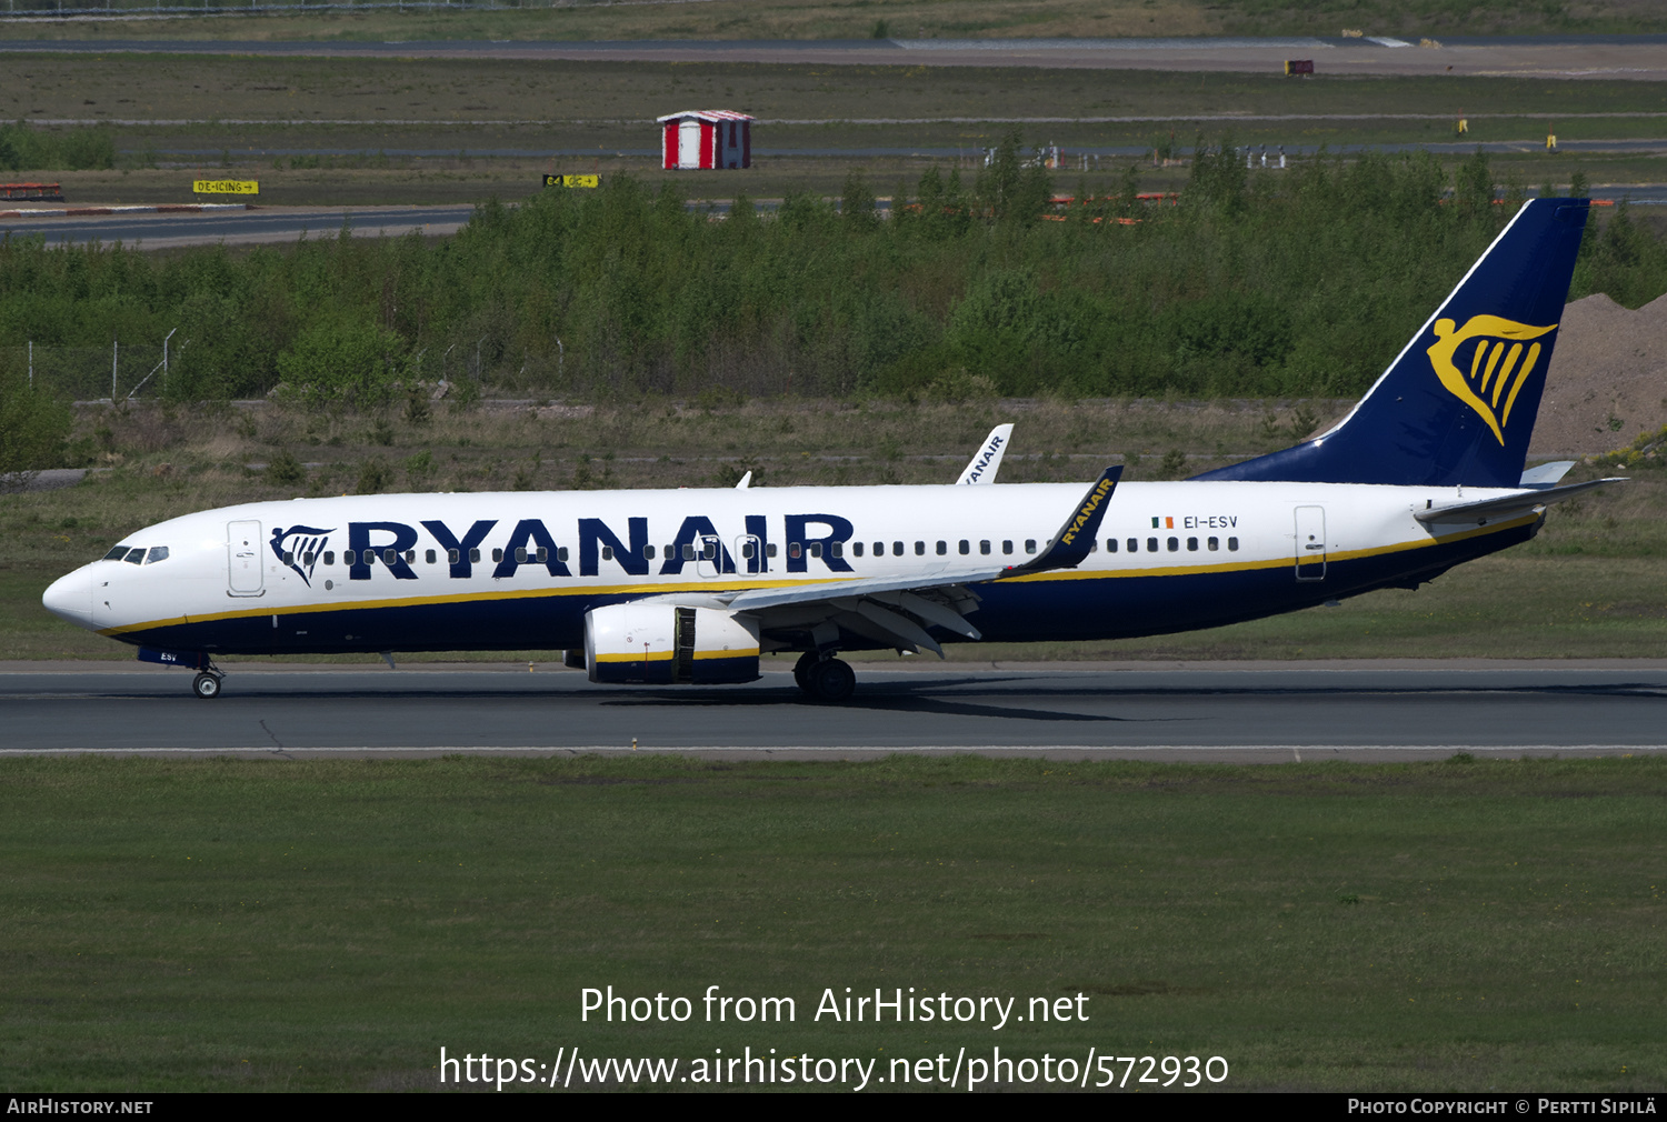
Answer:
[[[13, 57], [13, 65], [18, 82], [0, 92], [0, 112], [118, 122], [117, 170], [52, 175], [73, 202], [178, 202], [192, 178], [222, 170], [258, 178], [267, 205], [520, 198], [545, 172], [628, 172], [653, 183], [667, 173], [652, 155], [652, 118], [685, 105], [763, 120], [752, 172], [670, 173], [693, 198], [834, 195], [854, 163], [882, 193], [912, 190], [929, 165], [959, 162], [972, 175], [979, 153], [1014, 127], [1004, 122], [1060, 117], [1147, 120], [1032, 122], [1022, 125], [1025, 142], [1145, 152], [1172, 135], [1190, 145], [1202, 132], [1274, 150], [1432, 145], [1455, 140], [1462, 112], [1467, 143], [1530, 148], [1495, 157], [1502, 180], [1565, 185], [1575, 170], [1600, 185], [1667, 178], [1667, 162], [1652, 152], [1532, 150], [1549, 123], [1564, 143], [1660, 137], [1667, 93], [1637, 82], [132, 55]], [[1245, 120], [1289, 115], [1299, 120]], [[218, 123], [227, 120], [250, 123]], [[485, 155], [495, 150], [530, 155]], [[1089, 175], [1060, 170], [1055, 182], [1104, 193], [1132, 160], [1107, 155]], [[1185, 175], [1185, 167], [1145, 167], [1142, 187], [1170, 190]]]

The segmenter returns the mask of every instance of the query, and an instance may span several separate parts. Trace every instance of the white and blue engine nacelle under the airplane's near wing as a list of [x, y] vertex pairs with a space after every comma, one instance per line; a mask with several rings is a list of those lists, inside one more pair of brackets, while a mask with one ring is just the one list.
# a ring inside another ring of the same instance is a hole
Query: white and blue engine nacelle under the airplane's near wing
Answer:
[[753, 682], [758, 622], [718, 609], [613, 604], [585, 612], [592, 682], [650, 685]]

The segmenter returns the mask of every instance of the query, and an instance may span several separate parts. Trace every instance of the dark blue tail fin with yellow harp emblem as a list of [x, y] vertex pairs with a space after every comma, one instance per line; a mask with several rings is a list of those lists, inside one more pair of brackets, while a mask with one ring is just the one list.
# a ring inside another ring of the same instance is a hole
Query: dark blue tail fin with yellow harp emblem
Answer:
[[1342, 422], [1197, 478], [1515, 487], [1585, 215], [1524, 203]]

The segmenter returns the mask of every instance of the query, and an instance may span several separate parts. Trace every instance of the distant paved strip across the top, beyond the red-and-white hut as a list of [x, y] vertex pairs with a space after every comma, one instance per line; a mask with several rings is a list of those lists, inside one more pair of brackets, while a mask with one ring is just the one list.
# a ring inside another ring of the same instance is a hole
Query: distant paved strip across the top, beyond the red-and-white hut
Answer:
[[320, 58], [578, 58], [818, 65], [1052, 67], [1282, 72], [1312, 58], [1319, 73], [1457, 73], [1557, 78], [1667, 77], [1664, 35], [1444, 38], [1007, 38], [1007, 40], [707, 40], [707, 42], [258, 42], [8, 40], [3, 52], [243, 53]]

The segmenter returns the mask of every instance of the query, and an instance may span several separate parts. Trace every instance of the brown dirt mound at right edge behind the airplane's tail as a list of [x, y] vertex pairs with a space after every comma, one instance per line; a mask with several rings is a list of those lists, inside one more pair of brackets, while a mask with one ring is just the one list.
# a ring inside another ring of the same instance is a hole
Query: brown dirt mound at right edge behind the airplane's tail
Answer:
[[1667, 425], [1667, 295], [1629, 312], [1599, 293], [1564, 308], [1532, 457], [1590, 455]]

